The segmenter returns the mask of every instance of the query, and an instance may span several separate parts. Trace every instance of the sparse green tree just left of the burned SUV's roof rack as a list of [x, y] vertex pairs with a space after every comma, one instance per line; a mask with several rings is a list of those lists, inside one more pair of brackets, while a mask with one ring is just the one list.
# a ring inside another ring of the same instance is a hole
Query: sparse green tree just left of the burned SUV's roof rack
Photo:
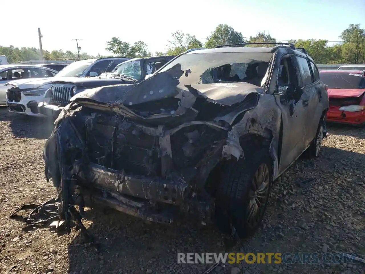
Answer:
[[195, 35], [185, 34], [180, 30], [175, 31], [171, 36], [172, 40], [168, 41], [169, 44], [167, 45], [167, 55], [178, 55], [188, 49], [195, 49], [203, 46], [203, 43], [196, 39]]

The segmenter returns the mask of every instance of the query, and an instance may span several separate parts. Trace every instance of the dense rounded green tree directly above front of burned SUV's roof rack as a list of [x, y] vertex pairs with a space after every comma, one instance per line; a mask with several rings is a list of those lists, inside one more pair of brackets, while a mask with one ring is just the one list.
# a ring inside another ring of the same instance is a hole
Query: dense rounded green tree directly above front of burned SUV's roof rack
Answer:
[[219, 24], [210, 36], [207, 37], [205, 47], [213, 48], [218, 45], [243, 43], [242, 33], [235, 31], [233, 27], [227, 24]]

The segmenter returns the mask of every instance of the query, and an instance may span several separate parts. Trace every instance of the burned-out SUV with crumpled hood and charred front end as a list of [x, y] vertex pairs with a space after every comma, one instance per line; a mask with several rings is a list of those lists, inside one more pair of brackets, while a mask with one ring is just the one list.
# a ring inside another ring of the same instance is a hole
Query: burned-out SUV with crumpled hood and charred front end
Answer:
[[327, 109], [304, 49], [188, 50], [137, 85], [74, 96], [46, 142], [46, 178], [66, 221], [81, 203], [160, 223], [215, 220], [245, 237], [272, 182], [304, 151], [319, 155]]

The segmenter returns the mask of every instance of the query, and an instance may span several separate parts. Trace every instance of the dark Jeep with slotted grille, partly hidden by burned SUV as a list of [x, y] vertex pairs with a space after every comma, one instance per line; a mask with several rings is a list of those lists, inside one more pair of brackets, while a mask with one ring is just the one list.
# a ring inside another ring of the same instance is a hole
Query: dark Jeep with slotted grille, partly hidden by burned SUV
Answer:
[[[57, 118], [62, 106], [69, 103], [72, 96], [90, 88], [116, 84], [137, 84], [146, 75], [150, 75], [170, 61], [174, 56], [155, 56], [147, 58], [133, 58], [115, 66], [109, 72], [101, 73], [92, 78], [65, 78], [52, 82], [52, 86], [45, 94], [46, 102], [38, 104], [38, 111], [43, 115]], [[113, 66], [114, 67], [114, 66]]]

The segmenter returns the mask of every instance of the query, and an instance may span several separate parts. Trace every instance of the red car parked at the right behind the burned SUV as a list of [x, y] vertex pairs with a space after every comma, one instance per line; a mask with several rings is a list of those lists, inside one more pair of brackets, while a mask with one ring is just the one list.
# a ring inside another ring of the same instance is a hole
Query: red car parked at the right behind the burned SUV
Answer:
[[365, 71], [320, 71], [320, 80], [328, 86], [330, 108], [328, 122], [365, 125]]

